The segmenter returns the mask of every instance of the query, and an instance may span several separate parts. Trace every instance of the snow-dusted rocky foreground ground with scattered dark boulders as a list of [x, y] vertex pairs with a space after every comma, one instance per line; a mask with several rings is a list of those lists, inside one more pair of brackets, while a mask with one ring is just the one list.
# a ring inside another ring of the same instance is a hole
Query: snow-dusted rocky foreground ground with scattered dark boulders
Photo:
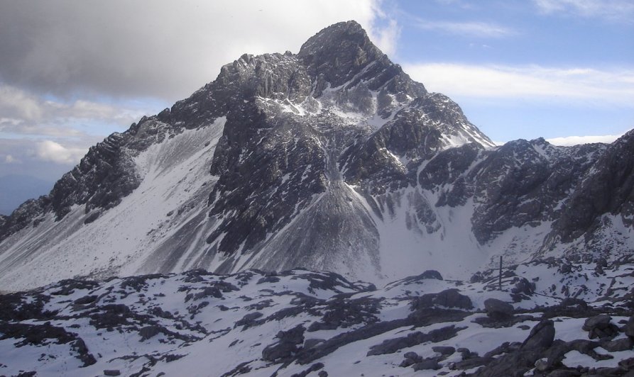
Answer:
[[0, 375], [634, 376], [634, 259], [502, 275], [65, 280], [0, 296]]

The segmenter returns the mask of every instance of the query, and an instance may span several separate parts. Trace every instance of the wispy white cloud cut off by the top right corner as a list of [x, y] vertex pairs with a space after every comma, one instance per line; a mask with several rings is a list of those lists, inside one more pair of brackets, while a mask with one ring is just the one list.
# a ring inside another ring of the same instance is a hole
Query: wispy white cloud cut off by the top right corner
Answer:
[[608, 21], [632, 23], [634, 2], [631, 0], [533, 0], [546, 14], [562, 14]]

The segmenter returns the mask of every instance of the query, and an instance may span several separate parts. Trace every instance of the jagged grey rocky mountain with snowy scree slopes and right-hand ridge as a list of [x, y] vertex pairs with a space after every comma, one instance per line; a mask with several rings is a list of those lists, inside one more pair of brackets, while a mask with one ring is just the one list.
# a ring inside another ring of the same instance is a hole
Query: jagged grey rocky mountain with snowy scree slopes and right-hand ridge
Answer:
[[386, 282], [470, 276], [503, 255], [634, 250], [634, 132], [493, 145], [359, 24], [216, 80], [89, 150], [0, 215], [0, 289], [60, 278], [296, 267]]

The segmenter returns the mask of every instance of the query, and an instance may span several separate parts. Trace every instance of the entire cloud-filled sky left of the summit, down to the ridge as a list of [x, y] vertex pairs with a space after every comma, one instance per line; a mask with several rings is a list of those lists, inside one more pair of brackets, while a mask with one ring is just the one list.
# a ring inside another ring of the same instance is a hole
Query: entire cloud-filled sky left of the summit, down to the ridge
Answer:
[[297, 52], [356, 19], [390, 52], [380, 0], [0, 0], [0, 177], [59, 178], [90, 145], [189, 96], [245, 52]]

